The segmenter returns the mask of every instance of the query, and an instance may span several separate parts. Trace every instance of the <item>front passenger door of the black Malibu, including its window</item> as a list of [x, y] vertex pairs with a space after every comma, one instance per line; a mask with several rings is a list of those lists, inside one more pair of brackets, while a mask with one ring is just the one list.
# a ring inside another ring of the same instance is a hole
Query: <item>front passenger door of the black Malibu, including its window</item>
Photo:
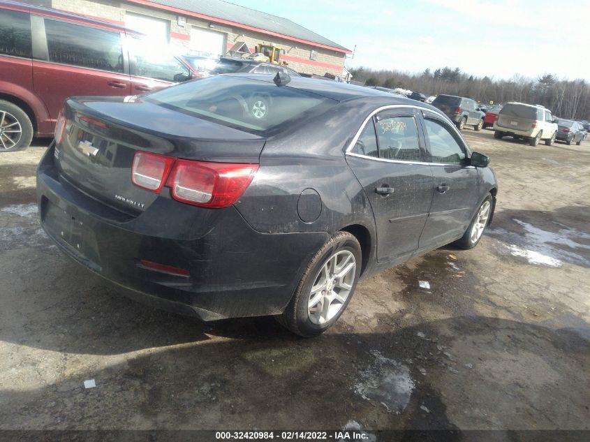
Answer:
[[434, 112], [422, 120], [429, 151], [434, 193], [420, 249], [434, 249], [463, 235], [478, 203], [478, 170], [459, 133]]

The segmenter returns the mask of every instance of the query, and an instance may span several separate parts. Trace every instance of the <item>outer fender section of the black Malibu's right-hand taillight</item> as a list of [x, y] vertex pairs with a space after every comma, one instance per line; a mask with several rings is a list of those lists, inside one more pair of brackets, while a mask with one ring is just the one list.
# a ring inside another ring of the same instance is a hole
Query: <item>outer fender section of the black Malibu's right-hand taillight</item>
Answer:
[[257, 164], [177, 160], [168, 186], [176, 200], [219, 209], [233, 205], [242, 196], [256, 170]]

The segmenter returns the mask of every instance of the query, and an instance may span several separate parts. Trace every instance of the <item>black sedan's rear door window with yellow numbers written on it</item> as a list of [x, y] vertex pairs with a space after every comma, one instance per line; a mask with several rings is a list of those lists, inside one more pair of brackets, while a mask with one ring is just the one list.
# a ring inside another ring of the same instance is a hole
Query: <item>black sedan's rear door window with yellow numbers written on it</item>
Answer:
[[379, 158], [420, 161], [420, 143], [414, 117], [379, 118], [377, 121]]

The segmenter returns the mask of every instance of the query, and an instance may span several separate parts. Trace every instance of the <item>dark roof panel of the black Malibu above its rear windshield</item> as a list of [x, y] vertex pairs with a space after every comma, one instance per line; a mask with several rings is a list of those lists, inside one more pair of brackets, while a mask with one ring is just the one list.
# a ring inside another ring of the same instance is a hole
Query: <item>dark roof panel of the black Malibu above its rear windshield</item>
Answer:
[[[251, 78], [252, 80], [262, 80], [267, 82], [272, 82], [272, 79], [274, 78], [274, 75], [253, 73], [235, 73], [224, 75], [236, 77], [240, 76]], [[325, 81], [316, 78], [291, 77], [290, 82], [288, 82], [288, 87], [300, 89], [302, 91], [309, 92], [310, 94], [324, 96], [325, 98], [332, 98], [332, 100], [336, 101], [346, 101], [355, 98], [385, 97], [389, 98], [389, 101], [391, 101], [392, 104], [408, 104], [415, 106], [416, 103], [420, 103], [415, 100], [411, 100], [411, 98], [397, 96], [395, 94], [390, 94], [389, 92], [379, 91], [378, 89], [371, 89], [370, 87], [356, 86], [355, 84], [336, 81]], [[423, 105], [424, 103], [420, 104]], [[425, 109], [435, 109], [430, 105], [424, 105], [423, 107]], [[436, 110], [436, 112], [438, 112], [438, 110]]]

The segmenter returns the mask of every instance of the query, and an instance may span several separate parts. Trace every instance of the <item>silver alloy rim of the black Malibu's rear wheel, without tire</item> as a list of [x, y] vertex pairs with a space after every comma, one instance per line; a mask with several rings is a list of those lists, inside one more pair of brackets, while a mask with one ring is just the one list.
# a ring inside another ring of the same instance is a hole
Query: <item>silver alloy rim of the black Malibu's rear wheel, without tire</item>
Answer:
[[356, 260], [351, 251], [337, 251], [327, 258], [309, 293], [309, 320], [321, 325], [337, 316], [351, 294], [355, 277]]

